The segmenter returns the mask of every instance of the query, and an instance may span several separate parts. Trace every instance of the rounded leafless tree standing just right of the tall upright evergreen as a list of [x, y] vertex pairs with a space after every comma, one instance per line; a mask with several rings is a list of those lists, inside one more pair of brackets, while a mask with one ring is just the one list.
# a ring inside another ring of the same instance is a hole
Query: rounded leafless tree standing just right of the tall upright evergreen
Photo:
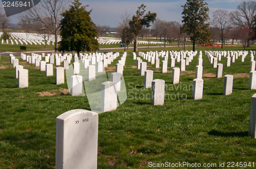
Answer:
[[230, 13], [227, 10], [216, 10], [212, 16], [214, 20], [212, 21], [212, 25], [218, 28], [219, 36], [221, 39], [221, 48], [223, 48], [223, 42], [225, 40], [225, 34], [227, 32], [227, 27], [230, 26]]

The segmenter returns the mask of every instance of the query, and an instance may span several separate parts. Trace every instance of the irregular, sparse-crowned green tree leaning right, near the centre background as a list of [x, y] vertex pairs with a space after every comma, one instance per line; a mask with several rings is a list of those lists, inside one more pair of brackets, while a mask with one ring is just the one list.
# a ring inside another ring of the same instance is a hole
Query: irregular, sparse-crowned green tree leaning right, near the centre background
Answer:
[[157, 17], [157, 14], [151, 13], [151, 11], [148, 11], [148, 13], [145, 14], [145, 8], [146, 6], [141, 4], [138, 7], [136, 14], [133, 15], [132, 20], [129, 22], [130, 29], [134, 35], [134, 51], [138, 51], [137, 41], [142, 27], [150, 27], [151, 22], [154, 22]]

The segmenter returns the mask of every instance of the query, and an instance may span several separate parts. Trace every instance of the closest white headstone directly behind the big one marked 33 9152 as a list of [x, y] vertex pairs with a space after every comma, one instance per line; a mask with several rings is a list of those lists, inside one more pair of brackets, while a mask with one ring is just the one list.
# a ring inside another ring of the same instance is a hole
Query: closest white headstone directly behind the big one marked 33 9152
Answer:
[[69, 93], [71, 96], [78, 96], [82, 94], [82, 76], [71, 76], [71, 89]]

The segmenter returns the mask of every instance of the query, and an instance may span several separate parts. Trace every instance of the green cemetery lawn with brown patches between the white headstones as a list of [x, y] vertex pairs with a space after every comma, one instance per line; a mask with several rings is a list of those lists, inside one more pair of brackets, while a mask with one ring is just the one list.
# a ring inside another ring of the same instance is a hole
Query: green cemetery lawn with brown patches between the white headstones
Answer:
[[[217, 168], [220, 162], [225, 167], [227, 162], [251, 162], [252, 168], [254, 162], [255, 167], [256, 140], [248, 136], [250, 99], [256, 93], [248, 90], [250, 57], [244, 63], [239, 58], [231, 67], [225, 67], [224, 57], [219, 62], [224, 64], [223, 76], [234, 75], [233, 93], [223, 96], [224, 78], [215, 78], [216, 69], [204, 54], [212, 48], [196, 49], [203, 51], [201, 100], [191, 99], [198, 55], [181, 72], [178, 85], [171, 83], [172, 68], [161, 73], [147, 63], [154, 79], [165, 80], [168, 97], [163, 106], [150, 104], [151, 90], [143, 88], [144, 76], [128, 50], [123, 72], [127, 100], [117, 110], [99, 114], [98, 168], [148, 168], [150, 162], [216, 163]], [[118, 60], [106, 71], [114, 71]], [[20, 59], [19, 65], [29, 70], [28, 88], [17, 88], [9, 57], [0, 58], [0, 168], [54, 168], [56, 117], [71, 109], [90, 109], [87, 97], [70, 96], [67, 83], [55, 85], [55, 74], [47, 77]]]

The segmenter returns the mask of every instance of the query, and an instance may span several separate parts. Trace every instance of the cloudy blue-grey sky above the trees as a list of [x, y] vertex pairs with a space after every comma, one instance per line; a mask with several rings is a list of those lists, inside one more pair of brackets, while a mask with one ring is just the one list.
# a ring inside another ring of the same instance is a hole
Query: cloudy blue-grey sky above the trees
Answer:
[[[72, 1], [72, 0], [71, 0]], [[248, 0], [245, 0], [246, 2]], [[178, 21], [181, 23], [182, 5], [185, 0], [80, 0], [82, 5], [89, 5], [88, 10], [92, 9], [91, 18], [98, 25], [109, 25], [116, 27], [121, 21], [121, 16], [127, 12], [132, 17], [137, 7], [141, 4], [146, 5], [146, 12], [157, 13], [157, 18], [166, 21]], [[209, 7], [209, 16], [217, 9], [228, 11], [236, 10], [241, 0], [206, 0]], [[18, 15], [11, 16], [11, 22], [17, 22]]]

